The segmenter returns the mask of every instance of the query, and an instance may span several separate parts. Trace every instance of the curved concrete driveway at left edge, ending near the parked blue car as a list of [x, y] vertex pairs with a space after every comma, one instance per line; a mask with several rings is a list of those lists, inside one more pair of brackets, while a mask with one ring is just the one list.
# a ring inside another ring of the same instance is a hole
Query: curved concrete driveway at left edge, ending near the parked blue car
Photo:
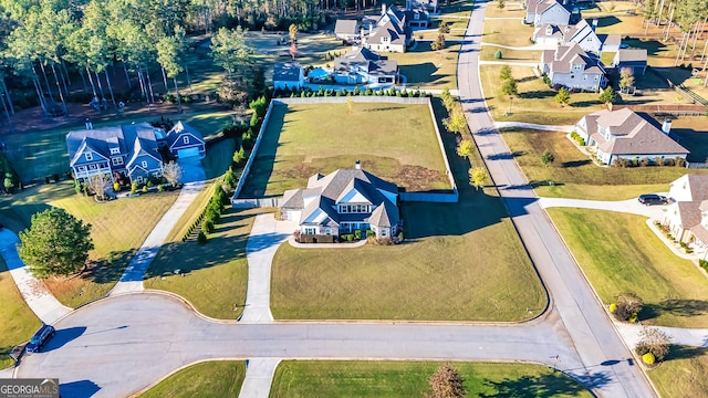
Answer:
[[42, 281], [30, 274], [18, 254], [17, 244], [19, 241], [20, 239], [14, 232], [7, 228], [1, 229], [0, 255], [8, 265], [12, 279], [30, 310], [45, 324], [53, 324], [73, 310], [60, 303]]

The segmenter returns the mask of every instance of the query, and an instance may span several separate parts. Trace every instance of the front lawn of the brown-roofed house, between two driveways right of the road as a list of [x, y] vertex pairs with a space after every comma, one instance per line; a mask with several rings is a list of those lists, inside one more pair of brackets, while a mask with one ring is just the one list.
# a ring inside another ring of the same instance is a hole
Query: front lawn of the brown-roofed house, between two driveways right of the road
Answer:
[[[566, 138], [565, 133], [519, 129], [502, 134], [540, 196], [622, 200], [646, 192], [668, 191], [668, 184], [686, 174], [680, 167], [596, 166]], [[549, 167], [541, 163], [544, 150], [555, 156]], [[549, 187], [545, 184], [549, 180], [556, 185]]]

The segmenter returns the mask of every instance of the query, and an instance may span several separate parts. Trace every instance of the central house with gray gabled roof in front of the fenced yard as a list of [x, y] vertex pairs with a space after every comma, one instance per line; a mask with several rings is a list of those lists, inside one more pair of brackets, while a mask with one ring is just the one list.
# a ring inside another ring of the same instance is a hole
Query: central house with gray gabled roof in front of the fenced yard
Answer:
[[337, 169], [316, 174], [308, 187], [287, 190], [281, 205], [283, 218], [296, 221], [301, 234], [337, 237], [371, 229], [376, 237], [398, 233], [400, 216], [398, 187], [361, 169]]

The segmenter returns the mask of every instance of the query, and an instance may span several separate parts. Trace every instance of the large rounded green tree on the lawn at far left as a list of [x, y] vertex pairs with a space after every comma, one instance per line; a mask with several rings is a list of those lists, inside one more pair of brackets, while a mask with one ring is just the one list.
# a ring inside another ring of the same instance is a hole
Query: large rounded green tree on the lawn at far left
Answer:
[[20, 258], [30, 273], [40, 279], [81, 270], [93, 249], [91, 224], [59, 208], [33, 214], [30, 229], [20, 232]]

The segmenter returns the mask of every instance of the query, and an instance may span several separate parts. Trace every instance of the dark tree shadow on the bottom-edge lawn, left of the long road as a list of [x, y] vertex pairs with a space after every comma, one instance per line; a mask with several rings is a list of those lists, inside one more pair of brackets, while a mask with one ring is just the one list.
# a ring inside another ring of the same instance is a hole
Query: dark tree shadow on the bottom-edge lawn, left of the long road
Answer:
[[[607, 384], [610, 377], [604, 373], [600, 373], [589, 376], [587, 379], [583, 381], [589, 381], [590, 385], [584, 384], [591, 388], [596, 388]], [[485, 384], [493, 388], [496, 392], [491, 395], [481, 394], [480, 397], [576, 396], [585, 390], [583, 385], [574, 381], [561, 371], [542, 376], [522, 376], [518, 379], [503, 379], [501, 381], [489, 380]]]

